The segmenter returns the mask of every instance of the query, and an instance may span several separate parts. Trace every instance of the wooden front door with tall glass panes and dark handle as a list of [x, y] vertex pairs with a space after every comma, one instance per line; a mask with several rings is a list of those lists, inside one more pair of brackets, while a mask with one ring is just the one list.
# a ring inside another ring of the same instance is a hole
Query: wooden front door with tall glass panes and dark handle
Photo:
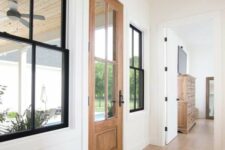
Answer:
[[90, 0], [89, 150], [122, 150], [123, 5]]

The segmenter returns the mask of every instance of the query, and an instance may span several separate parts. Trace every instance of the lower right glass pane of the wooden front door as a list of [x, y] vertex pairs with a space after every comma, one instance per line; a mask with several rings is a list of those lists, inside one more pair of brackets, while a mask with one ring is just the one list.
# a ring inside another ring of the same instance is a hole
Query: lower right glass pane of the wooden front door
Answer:
[[115, 114], [115, 66], [108, 64], [108, 118]]

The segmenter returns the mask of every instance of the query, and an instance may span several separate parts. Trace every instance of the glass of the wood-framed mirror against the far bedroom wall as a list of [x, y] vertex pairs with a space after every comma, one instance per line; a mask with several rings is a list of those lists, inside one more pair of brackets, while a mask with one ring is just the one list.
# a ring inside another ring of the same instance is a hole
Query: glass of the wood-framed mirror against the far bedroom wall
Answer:
[[209, 116], [214, 116], [214, 80], [209, 80]]

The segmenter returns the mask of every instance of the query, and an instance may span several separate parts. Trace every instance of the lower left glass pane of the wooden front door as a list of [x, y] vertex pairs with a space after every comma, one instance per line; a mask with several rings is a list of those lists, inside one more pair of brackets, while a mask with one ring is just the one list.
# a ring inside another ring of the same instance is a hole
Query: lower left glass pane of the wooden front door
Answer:
[[105, 120], [105, 63], [95, 61], [95, 121]]

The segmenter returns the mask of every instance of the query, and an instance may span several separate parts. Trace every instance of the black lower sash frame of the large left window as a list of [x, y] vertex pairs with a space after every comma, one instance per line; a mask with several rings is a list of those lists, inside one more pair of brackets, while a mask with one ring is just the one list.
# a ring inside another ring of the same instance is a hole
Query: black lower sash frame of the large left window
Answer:
[[[32, 127], [30, 130], [16, 132], [12, 134], [0, 135], [0, 141], [12, 140], [20, 137], [25, 137], [33, 134], [52, 131], [60, 128], [68, 127], [68, 109], [69, 109], [69, 50], [60, 47], [48, 45], [38, 41], [16, 37], [7, 33], [0, 32], [0, 39], [6, 39], [19, 43], [26, 43], [32, 47], [32, 77], [31, 77], [31, 121]], [[62, 53], [62, 123], [52, 126], [46, 126], [42, 128], [35, 128], [35, 73], [36, 73], [36, 47], [46, 48], [52, 51], [58, 51]]]

